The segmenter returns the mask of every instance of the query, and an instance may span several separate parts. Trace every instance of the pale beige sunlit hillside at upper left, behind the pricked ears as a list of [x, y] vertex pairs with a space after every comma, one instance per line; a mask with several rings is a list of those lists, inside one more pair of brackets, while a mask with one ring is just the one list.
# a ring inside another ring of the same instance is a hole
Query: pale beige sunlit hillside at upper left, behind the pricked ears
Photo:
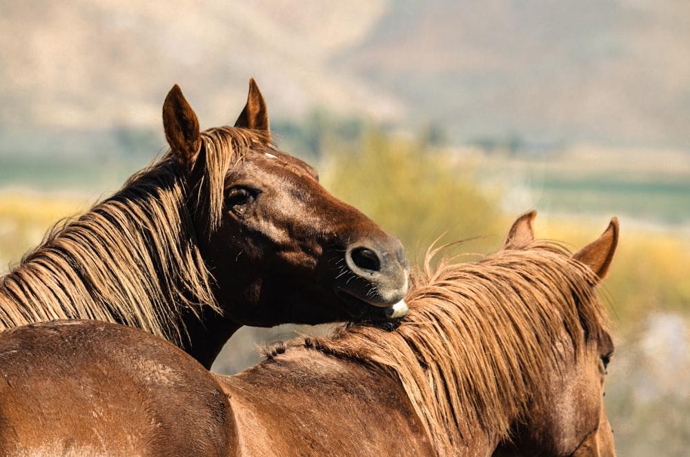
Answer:
[[[237, 4], [233, 4], [237, 3]], [[234, 121], [255, 77], [270, 114], [324, 105], [390, 117], [386, 94], [326, 67], [384, 12], [377, 1], [0, 0], [0, 124], [156, 126], [173, 84], [202, 123]]]

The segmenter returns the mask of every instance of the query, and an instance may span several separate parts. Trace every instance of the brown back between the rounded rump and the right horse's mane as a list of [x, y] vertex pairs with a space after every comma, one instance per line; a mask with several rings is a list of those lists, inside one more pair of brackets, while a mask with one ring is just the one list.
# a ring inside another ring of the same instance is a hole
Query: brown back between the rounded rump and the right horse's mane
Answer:
[[215, 375], [242, 456], [433, 455], [397, 380], [371, 365], [288, 349], [235, 376]]

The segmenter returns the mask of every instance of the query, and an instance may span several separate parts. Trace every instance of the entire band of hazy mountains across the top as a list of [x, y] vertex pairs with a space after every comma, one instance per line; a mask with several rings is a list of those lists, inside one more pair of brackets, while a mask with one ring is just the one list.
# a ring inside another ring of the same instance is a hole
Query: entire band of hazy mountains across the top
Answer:
[[[259, 82], [458, 142], [690, 145], [690, 3], [674, 0], [0, 0], [0, 133], [160, 130], [180, 84], [203, 126]], [[21, 134], [23, 133], [23, 134]], [[16, 143], [21, 143], [17, 140]]]

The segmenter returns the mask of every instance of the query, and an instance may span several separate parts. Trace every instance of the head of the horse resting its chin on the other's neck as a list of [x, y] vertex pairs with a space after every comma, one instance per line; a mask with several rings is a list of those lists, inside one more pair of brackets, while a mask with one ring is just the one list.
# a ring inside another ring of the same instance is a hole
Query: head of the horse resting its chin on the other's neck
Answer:
[[200, 132], [178, 86], [163, 117], [228, 321], [272, 326], [406, 314], [409, 267], [400, 240], [328, 193], [311, 166], [273, 145], [253, 79], [234, 127]]

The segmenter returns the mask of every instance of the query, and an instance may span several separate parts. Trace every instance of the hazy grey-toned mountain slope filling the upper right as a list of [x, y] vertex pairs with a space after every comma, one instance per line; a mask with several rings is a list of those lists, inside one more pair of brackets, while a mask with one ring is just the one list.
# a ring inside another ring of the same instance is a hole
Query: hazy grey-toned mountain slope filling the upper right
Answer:
[[335, 68], [458, 139], [690, 145], [690, 3], [396, 1]]

